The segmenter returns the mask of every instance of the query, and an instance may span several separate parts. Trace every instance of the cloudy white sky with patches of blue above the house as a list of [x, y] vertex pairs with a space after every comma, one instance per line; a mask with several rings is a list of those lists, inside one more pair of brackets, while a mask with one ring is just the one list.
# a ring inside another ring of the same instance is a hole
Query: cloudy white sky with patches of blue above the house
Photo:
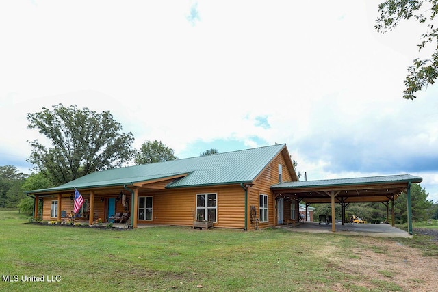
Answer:
[[137, 149], [285, 143], [308, 180], [412, 174], [436, 202], [438, 87], [402, 98], [424, 27], [378, 34], [378, 3], [1, 1], [0, 165], [30, 173], [26, 114], [62, 103]]

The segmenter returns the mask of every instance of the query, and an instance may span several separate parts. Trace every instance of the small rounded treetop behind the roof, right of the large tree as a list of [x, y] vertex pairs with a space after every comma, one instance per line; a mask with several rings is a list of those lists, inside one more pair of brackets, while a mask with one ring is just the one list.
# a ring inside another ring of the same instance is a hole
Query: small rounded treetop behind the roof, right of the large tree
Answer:
[[173, 155], [173, 149], [168, 148], [161, 141], [146, 141], [140, 147], [140, 150], [136, 151], [134, 162], [139, 164], [149, 164], [162, 161], [169, 161], [178, 159]]

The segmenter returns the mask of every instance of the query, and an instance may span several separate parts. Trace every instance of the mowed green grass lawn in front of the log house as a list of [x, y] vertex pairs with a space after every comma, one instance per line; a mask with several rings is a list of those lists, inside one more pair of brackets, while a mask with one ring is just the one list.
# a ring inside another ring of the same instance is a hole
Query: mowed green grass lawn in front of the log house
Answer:
[[[0, 291], [339, 291], [339, 285], [342, 291], [369, 291], [342, 264], [360, 257], [353, 249], [357, 237], [25, 222], [16, 211], [0, 211]], [[388, 271], [379, 272], [388, 280], [360, 280], [371, 291], [400, 291]], [[22, 276], [43, 276], [44, 282]]]

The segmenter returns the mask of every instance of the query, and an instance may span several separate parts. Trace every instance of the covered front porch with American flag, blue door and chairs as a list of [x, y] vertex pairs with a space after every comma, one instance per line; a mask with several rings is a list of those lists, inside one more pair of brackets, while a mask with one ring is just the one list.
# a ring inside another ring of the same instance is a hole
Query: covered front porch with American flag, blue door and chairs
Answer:
[[[69, 183], [62, 189], [58, 187], [53, 191], [43, 189], [34, 193], [34, 217], [42, 218], [43, 214], [46, 214], [46, 217], [50, 214], [49, 218], [42, 219], [63, 221], [73, 215], [75, 222], [88, 225], [129, 222], [131, 228], [136, 228], [139, 224], [154, 224], [153, 197], [163, 194], [166, 185], [185, 175], [187, 174], [157, 176], [148, 181], [129, 184], [105, 184], [105, 181], [102, 181], [93, 187], [89, 187], [86, 182], [75, 185]], [[75, 189], [85, 200], [77, 214], [73, 214]], [[40, 204], [43, 204], [42, 213], [38, 211]], [[117, 219], [117, 215], [123, 219]]]

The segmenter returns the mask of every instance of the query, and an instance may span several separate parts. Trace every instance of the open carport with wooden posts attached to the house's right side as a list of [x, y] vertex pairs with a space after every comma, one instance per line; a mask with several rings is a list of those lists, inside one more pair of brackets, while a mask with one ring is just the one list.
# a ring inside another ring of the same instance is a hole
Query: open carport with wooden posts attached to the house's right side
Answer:
[[[341, 204], [342, 220], [345, 209], [350, 203], [381, 202], [387, 207], [389, 221], [389, 204], [391, 202], [392, 226], [394, 226], [394, 200], [403, 192], [407, 194], [408, 232], [412, 235], [411, 185], [421, 183], [423, 178], [410, 174], [390, 176], [370, 176], [361, 178], [337, 178], [318, 181], [293, 181], [279, 183], [270, 188], [276, 196], [289, 196], [310, 204], [331, 204], [331, 228], [336, 231], [335, 203]], [[307, 212], [306, 212], [307, 213]]]

